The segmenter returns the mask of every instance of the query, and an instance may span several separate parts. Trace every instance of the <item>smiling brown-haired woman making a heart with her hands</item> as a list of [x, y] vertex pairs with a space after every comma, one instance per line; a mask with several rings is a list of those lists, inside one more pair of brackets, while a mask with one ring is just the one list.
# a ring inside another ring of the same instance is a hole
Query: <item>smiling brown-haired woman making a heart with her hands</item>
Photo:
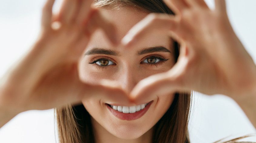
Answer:
[[52, 18], [53, 3], [38, 42], [1, 80], [1, 126], [25, 110], [59, 107], [61, 142], [188, 142], [191, 90], [232, 97], [255, 126], [255, 64], [223, 1], [211, 11], [201, 0], [166, 0], [176, 16], [147, 16], [172, 12], [162, 1], [98, 0], [98, 11], [66, 0]]

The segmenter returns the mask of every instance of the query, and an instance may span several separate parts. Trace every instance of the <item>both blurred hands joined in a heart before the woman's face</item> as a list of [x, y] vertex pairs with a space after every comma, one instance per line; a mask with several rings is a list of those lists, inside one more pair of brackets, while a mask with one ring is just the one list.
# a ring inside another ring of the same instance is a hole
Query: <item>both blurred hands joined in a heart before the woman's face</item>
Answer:
[[[41, 39], [10, 72], [7, 85], [12, 86], [6, 88], [8, 94], [3, 94], [9, 96], [0, 97], [14, 110], [49, 109], [85, 98], [104, 98], [133, 106], [155, 96], [191, 90], [233, 98], [254, 91], [251, 85], [256, 81], [255, 64], [229, 23], [224, 0], [215, 0], [214, 10], [204, 0], [164, 0], [176, 15], [149, 14], [131, 28], [121, 41], [125, 48], [137, 47], [154, 32], [170, 36], [181, 45], [178, 61], [171, 70], [141, 80], [131, 93], [123, 91], [115, 81], [91, 85], [78, 76], [78, 59], [97, 28], [105, 32], [112, 44], [118, 44], [111, 21], [97, 9], [90, 9], [92, 0], [65, 0], [55, 19], [54, 2], [48, 0], [43, 8]], [[55, 20], [62, 23], [58, 29], [52, 29]], [[12, 87], [20, 88], [14, 91]]]

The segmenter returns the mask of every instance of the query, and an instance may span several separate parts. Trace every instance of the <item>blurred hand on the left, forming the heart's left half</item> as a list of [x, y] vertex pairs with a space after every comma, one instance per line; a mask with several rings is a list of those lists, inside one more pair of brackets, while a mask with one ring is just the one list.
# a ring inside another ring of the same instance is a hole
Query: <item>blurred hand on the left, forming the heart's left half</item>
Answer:
[[[79, 58], [97, 28], [104, 30], [113, 44], [117, 43], [113, 24], [99, 10], [91, 8], [92, 0], [64, 0], [56, 17], [52, 14], [54, 2], [47, 0], [43, 8], [37, 42], [1, 80], [0, 112], [17, 115], [26, 110], [78, 104], [90, 95], [128, 101], [119, 88], [89, 85], [78, 76]], [[55, 29], [52, 23], [56, 22], [61, 26]]]

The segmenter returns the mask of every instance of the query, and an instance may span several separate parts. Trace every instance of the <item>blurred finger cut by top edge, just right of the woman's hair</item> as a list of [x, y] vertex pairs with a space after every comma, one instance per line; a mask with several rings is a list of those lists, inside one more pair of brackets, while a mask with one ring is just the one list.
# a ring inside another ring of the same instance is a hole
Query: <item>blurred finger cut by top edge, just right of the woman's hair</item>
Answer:
[[170, 9], [175, 11], [176, 14], [180, 14], [184, 9], [190, 7], [186, 0], [164, 0], [164, 2]]

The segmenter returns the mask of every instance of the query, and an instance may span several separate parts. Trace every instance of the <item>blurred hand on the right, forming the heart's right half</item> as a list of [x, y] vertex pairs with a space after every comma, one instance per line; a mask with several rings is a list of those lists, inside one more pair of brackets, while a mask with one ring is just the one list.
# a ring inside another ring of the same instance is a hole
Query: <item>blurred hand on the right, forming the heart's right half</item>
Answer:
[[214, 10], [204, 0], [164, 1], [176, 15], [149, 14], [122, 43], [127, 48], [137, 47], [148, 35], [161, 32], [181, 44], [180, 56], [168, 72], [139, 82], [131, 92], [134, 102], [191, 90], [223, 94], [251, 114], [255, 126], [256, 116], [251, 111], [256, 110], [256, 66], [231, 27], [225, 1], [215, 0]]

